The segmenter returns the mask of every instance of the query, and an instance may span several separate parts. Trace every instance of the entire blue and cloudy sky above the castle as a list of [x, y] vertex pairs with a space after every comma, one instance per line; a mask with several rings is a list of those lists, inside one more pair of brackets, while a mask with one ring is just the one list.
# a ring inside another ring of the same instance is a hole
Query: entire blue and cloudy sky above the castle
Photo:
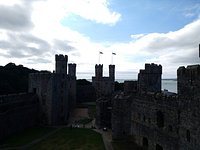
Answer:
[[[0, 0], [0, 65], [54, 70], [54, 55], [69, 56], [78, 78], [96, 63], [116, 65], [116, 78], [135, 79], [145, 63], [176, 78], [197, 64], [200, 0]], [[99, 51], [103, 52], [99, 60]]]

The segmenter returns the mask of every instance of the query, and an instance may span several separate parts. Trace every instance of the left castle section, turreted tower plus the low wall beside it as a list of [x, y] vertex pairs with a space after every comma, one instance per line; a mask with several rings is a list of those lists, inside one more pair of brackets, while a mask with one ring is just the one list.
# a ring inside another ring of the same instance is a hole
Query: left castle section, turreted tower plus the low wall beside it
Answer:
[[28, 93], [0, 96], [0, 140], [29, 127], [68, 123], [76, 105], [76, 64], [68, 64], [67, 55], [55, 61], [55, 72], [29, 75]]

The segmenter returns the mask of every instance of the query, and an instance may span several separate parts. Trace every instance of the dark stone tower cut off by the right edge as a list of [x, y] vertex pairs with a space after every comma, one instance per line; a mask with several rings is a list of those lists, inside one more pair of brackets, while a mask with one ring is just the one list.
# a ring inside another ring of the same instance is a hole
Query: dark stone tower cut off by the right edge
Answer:
[[177, 70], [180, 103], [180, 149], [200, 147], [200, 65]]

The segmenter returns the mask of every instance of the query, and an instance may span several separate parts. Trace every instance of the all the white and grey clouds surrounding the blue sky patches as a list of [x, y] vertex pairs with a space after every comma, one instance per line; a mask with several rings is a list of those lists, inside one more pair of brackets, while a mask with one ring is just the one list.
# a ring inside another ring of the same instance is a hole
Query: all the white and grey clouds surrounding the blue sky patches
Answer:
[[[16, 2], [17, 8], [25, 8], [25, 0], [19, 2]], [[13, 4], [7, 7], [16, 8]], [[77, 72], [91, 75], [101, 50], [105, 72], [111, 63], [111, 53], [115, 52], [117, 78], [136, 78], [136, 72], [144, 68], [144, 63], [162, 64], [164, 77], [175, 77], [180, 65], [199, 62], [200, 20], [177, 31], [131, 35], [133, 39], [129, 42], [105, 44], [92, 42], [89, 37], [62, 26], [60, 21], [73, 13], [98, 23], [115, 24], [120, 14], [109, 9], [106, 0], [32, 1], [29, 8], [31, 11], [24, 9], [28, 13], [26, 16], [31, 16], [27, 20], [33, 24], [28, 26], [29, 30], [0, 29], [1, 65], [14, 62], [35, 69], [53, 70], [54, 54], [62, 53], [69, 55], [69, 62], [77, 63]]]

